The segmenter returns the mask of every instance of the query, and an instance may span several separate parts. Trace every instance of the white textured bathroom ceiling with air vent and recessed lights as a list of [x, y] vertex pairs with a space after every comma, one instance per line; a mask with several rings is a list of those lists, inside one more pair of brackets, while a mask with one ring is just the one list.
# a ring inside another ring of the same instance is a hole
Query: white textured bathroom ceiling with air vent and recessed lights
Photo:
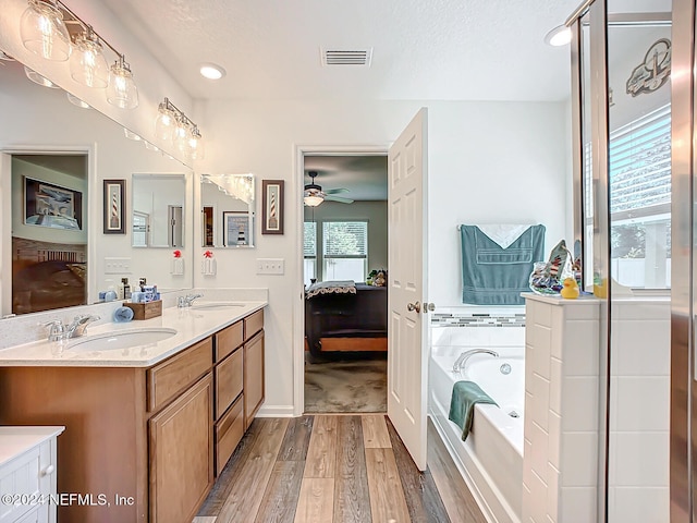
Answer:
[[[100, 0], [195, 98], [562, 100], [579, 0]], [[320, 47], [371, 47], [322, 66]], [[228, 74], [212, 82], [201, 62]]]

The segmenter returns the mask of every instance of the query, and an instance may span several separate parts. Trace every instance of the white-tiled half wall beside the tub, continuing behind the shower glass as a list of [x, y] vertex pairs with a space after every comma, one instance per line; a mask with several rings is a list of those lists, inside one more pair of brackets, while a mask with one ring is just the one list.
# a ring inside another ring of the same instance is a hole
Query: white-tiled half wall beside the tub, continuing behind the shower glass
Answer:
[[[526, 295], [525, 523], [598, 519], [600, 303]], [[663, 523], [670, 301], [611, 306], [609, 521]]]

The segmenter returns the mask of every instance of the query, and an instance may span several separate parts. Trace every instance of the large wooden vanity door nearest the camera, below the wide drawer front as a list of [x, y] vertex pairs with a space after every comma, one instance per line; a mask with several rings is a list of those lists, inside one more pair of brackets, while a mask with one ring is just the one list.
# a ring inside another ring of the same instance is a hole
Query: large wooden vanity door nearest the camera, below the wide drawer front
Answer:
[[152, 416], [150, 522], [191, 523], [213, 482], [213, 381], [208, 373]]

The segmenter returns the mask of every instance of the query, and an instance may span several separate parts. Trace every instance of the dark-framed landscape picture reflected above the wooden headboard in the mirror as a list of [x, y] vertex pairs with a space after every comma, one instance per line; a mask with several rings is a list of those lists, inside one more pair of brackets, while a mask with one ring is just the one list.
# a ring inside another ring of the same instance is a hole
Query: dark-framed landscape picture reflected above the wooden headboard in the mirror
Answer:
[[83, 193], [24, 177], [24, 223], [82, 230]]

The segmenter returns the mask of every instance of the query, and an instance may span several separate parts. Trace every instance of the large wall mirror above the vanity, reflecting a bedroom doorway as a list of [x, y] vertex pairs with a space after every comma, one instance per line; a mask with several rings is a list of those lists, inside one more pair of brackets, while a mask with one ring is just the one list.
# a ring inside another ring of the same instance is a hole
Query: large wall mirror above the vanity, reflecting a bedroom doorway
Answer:
[[[99, 291], [117, 289], [123, 277], [132, 281], [147, 278], [164, 292], [191, 289], [191, 248], [178, 247], [184, 272], [174, 275], [162, 270], [171, 266], [171, 251], [133, 247], [132, 173], [174, 172], [184, 187], [182, 198], [191, 198], [192, 171], [146, 148], [143, 141], [127, 139], [123, 126], [94, 109], [75, 106], [62, 88], [32, 83], [22, 63], [2, 64], [0, 111], [3, 121], [12, 124], [0, 126], [0, 317], [94, 303]], [[126, 214], [122, 233], [103, 231], [105, 180], [123, 181]], [[180, 202], [191, 223], [192, 202]], [[182, 243], [191, 247], [193, 228], [184, 228], [182, 234]], [[52, 245], [17, 247], [26, 240]], [[38, 264], [44, 264], [38, 268], [58, 270], [41, 269], [44, 280], [16, 276]], [[21, 290], [29, 295], [20, 300], [13, 280], [30, 282], [30, 288]], [[70, 293], [64, 292], [66, 288]], [[38, 300], [47, 290], [53, 295]], [[21, 302], [21, 307], [13, 311], [13, 302]]]

